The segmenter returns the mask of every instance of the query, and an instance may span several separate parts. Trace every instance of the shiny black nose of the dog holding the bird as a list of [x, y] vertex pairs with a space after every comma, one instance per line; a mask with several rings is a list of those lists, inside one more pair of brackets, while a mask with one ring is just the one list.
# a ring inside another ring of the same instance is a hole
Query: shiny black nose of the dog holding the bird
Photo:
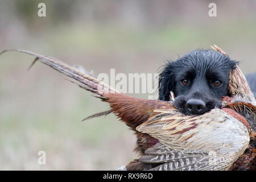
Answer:
[[205, 102], [197, 99], [190, 99], [185, 104], [185, 107], [190, 114], [205, 113]]

